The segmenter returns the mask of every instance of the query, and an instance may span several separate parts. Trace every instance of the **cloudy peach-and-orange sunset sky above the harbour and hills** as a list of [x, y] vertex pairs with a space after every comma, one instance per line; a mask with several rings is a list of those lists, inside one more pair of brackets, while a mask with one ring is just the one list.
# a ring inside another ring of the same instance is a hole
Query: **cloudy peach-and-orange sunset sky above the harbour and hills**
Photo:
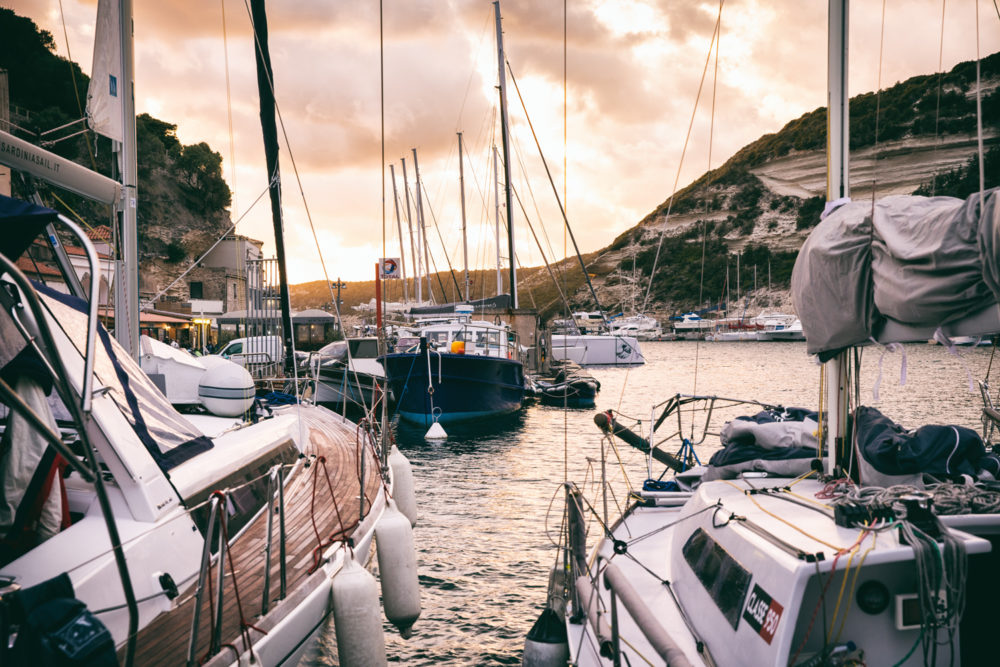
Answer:
[[[96, 0], [62, 0], [61, 10], [59, 0], [0, 4], [49, 30], [58, 52], [69, 52], [89, 73]], [[886, 87], [936, 71], [939, 50], [944, 69], [974, 59], [977, 0], [947, 3], [942, 29], [943, 4], [888, 0], [883, 31], [882, 3], [856, 0], [851, 94], [874, 90], [879, 81]], [[266, 178], [244, 2], [135, 5], [137, 111], [176, 124], [182, 142], [206, 141], [223, 155], [235, 192], [233, 213], [245, 214], [239, 230], [264, 239], [265, 251], [272, 250], [266, 196], [252, 206]], [[600, 248], [674, 189], [719, 3], [503, 0], [501, 10], [507, 59], [556, 189], [565, 193], [581, 250]], [[761, 134], [826, 104], [826, 11], [823, 0], [725, 2], [714, 123], [713, 61], [678, 187]], [[986, 55], [1000, 49], [1000, 18], [992, 0], [978, 0], [978, 12], [979, 52]], [[382, 255], [379, 3], [270, 0], [268, 21], [287, 134], [281, 168], [291, 280], [322, 279], [307, 208], [331, 279], [367, 279]], [[386, 164], [395, 165], [402, 196], [400, 158], [406, 158], [415, 196], [411, 149], [417, 149], [432, 255], [443, 269], [436, 219], [444, 247], [459, 266], [456, 132], [463, 132], [470, 264], [490, 267], [496, 251], [488, 165], [490, 146], [499, 143], [492, 2], [384, 0], [382, 25]], [[515, 189], [546, 256], [562, 256], [552, 186], [509, 79], [508, 87]], [[398, 256], [388, 166], [385, 193], [387, 255]], [[519, 262], [540, 264], [516, 200], [514, 209]], [[409, 252], [405, 210], [403, 229]]]

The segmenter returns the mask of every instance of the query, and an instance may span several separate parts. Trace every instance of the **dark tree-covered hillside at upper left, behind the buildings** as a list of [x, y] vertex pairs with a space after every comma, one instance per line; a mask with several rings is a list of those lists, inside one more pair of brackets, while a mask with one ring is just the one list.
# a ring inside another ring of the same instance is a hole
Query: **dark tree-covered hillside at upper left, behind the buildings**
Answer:
[[[51, 34], [3, 7], [0, 35], [0, 69], [8, 73], [13, 133], [42, 144], [42, 132], [83, 116], [89, 77], [76, 63], [55, 55]], [[222, 156], [208, 144], [183, 145], [176, 125], [148, 114], [136, 118], [136, 135], [140, 290], [157, 292], [229, 227], [231, 194], [222, 177]], [[81, 134], [46, 148], [110, 175], [110, 140], [94, 136]], [[29, 196], [32, 187], [47, 206], [87, 227], [108, 224], [110, 210], [103, 205], [40, 181], [12, 183], [15, 196]], [[186, 298], [181, 294], [185, 289], [181, 283], [174, 291]]]

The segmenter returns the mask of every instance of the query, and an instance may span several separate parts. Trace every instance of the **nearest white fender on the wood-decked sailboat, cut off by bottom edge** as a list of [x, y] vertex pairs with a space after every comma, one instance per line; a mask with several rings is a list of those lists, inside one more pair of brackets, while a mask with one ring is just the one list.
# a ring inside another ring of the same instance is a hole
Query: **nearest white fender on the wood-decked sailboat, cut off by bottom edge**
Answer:
[[333, 578], [333, 625], [341, 665], [386, 664], [375, 577], [353, 558]]

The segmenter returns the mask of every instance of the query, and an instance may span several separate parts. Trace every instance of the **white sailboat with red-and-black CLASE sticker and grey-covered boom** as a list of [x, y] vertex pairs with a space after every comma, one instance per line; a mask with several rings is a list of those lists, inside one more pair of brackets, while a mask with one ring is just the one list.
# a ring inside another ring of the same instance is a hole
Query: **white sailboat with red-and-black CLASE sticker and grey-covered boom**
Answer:
[[[848, 373], [871, 339], [1000, 332], [1000, 191], [844, 203], [847, 16], [846, 1], [830, 2], [828, 198], [839, 206], [792, 277], [807, 348], [825, 362], [824, 402], [675, 395], [653, 406], [645, 436], [597, 415], [647, 453], [649, 480], [617, 519], [607, 497], [602, 517], [566, 483], [561, 558], [525, 664], [983, 664], [994, 653], [1000, 514], [982, 503], [992, 487], [975, 483], [1000, 464], [983, 443], [1000, 424], [988, 386], [981, 438], [850, 410]], [[698, 464], [691, 448], [716, 435], [722, 448]]]

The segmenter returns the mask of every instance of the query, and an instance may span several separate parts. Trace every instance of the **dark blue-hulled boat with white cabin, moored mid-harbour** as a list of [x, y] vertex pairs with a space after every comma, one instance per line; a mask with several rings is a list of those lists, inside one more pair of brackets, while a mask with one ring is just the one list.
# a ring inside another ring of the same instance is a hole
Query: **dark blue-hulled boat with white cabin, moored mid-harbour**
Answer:
[[380, 361], [401, 419], [429, 426], [521, 409], [524, 370], [504, 325], [463, 319], [433, 324], [419, 338], [400, 339], [396, 350]]

